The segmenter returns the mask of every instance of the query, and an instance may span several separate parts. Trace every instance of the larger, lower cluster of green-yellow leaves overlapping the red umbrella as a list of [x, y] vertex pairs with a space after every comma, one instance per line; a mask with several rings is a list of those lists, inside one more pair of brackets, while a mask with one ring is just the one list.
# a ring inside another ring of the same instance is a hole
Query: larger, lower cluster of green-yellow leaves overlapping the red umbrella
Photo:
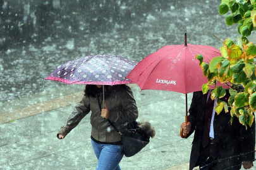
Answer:
[[240, 123], [246, 127], [252, 126], [253, 112], [256, 111], [255, 57], [256, 46], [241, 38], [238, 38], [238, 44], [229, 38], [226, 39], [221, 47], [221, 56], [214, 57], [209, 64], [203, 62], [202, 55], [196, 56], [208, 80], [208, 83], [202, 86], [204, 94], [209, 90], [209, 85], [214, 84], [216, 87], [217, 81], [231, 84], [228, 103], [221, 101], [226, 95], [221, 86], [211, 92], [210, 97], [217, 98], [216, 113], [221, 113], [223, 109], [226, 113], [230, 110], [231, 121], [233, 116], [237, 116]]

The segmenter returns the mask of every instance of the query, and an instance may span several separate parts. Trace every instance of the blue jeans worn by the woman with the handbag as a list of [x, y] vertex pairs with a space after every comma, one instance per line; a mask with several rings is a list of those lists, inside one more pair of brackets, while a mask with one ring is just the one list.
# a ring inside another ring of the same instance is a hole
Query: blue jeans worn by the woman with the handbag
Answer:
[[122, 145], [97, 144], [91, 140], [98, 159], [96, 170], [121, 170], [119, 162], [123, 158]]

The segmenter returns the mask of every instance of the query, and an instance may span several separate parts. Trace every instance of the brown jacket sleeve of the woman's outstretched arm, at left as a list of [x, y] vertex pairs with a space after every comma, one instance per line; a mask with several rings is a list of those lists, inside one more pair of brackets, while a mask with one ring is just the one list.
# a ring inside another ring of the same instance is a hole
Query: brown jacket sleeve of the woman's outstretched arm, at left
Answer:
[[57, 134], [59, 139], [59, 134], [63, 135], [64, 137], [70, 133], [70, 131], [78, 125], [78, 123], [82, 120], [82, 118], [90, 112], [90, 98], [86, 95], [83, 96], [82, 101], [75, 106], [75, 109], [71, 113], [70, 117], [68, 118], [68, 122], [66, 126], [61, 127], [61, 130]]

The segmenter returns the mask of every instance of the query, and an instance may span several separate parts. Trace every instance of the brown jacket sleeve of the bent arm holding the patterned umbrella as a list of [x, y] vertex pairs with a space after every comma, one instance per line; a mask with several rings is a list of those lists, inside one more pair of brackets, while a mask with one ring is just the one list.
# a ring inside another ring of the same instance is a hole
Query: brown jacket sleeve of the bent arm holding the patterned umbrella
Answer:
[[118, 111], [109, 111], [108, 119], [111, 122], [132, 122], [138, 118], [138, 108], [136, 101], [133, 98], [133, 93], [130, 87], [126, 87], [126, 90], [123, 91], [121, 95], [121, 105], [122, 110]]

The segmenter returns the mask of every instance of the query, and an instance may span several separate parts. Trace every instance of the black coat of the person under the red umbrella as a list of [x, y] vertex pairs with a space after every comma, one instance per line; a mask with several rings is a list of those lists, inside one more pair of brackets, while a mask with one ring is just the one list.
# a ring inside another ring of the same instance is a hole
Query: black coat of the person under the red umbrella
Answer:
[[[229, 94], [227, 93], [227, 95]], [[228, 96], [223, 99], [227, 101]], [[202, 141], [206, 103], [207, 94], [203, 94], [202, 91], [193, 93], [189, 110], [190, 115], [188, 116], [188, 122], [192, 124], [192, 127], [187, 135], [189, 137], [193, 132], [195, 133], [190, 156], [190, 169], [198, 166], [196, 163]], [[230, 120], [230, 113], [224, 111], [219, 115], [216, 113], [214, 116], [214, 143], [216, 146], [214, 157], [222, 160], [219, 162], [217, 169], [225, 169], [231, 166], [240, 169], [242, 161], [255, 160], [255, 120], [252, 127], [248, 127], [247, 130], [245, 126], [240, 124], [236, 116], [234, 116], [232, 125]]]

